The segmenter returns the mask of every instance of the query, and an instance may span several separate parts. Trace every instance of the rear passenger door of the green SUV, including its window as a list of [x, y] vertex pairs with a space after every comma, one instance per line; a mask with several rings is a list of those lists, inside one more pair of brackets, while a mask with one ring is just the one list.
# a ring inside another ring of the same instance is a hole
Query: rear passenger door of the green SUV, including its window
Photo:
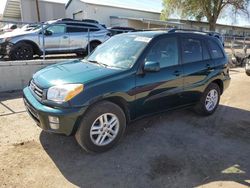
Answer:
[[183, 66], [183, 102], [196, 102], [203, 85], [214, 70], [208, 47], [201, 38], [182, 37], [182, 66]]

